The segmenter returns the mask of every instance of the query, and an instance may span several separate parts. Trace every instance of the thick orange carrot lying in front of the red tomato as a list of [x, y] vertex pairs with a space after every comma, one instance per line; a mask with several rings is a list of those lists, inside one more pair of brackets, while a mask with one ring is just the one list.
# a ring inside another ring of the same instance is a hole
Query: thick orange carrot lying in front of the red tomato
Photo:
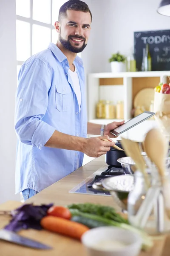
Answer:
[[40, 224], [46, 230], [79, 240], [81, 236], [89, 230], [89, 228], [83, 224], [54, 216], [45, 216], [41, 219]]

